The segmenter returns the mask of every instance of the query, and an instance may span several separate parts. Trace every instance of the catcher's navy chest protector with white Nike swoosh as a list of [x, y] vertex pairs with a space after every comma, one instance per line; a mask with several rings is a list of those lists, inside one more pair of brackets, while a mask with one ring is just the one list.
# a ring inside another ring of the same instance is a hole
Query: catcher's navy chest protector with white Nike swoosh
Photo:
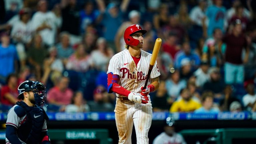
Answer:
[[29, 107], [25, 102], [16, 103], [21, 106], [26, 113], [26, 120], [17, 130], [20, 140], [27, 144], [41, 143], [41, 131], [44, 121], [48, 120], [48, 116], [41, 107]]

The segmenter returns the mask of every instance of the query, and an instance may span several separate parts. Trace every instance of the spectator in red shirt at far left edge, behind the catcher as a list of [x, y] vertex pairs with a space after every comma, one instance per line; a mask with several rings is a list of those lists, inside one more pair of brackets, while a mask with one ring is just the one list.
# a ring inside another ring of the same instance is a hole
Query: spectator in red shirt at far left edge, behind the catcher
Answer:
[[18, 78], [15, 74], [10, 74], [6, 79], [6, 85], [1, 89], [1, 103], [4, 105], [14, 106], [18, 101], [19, 95], [17, 91]]

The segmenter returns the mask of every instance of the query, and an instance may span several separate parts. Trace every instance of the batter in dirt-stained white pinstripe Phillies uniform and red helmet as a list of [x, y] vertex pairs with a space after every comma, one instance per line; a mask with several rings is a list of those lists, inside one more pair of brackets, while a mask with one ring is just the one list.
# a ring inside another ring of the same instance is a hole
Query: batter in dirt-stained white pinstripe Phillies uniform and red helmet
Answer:
[[119, 144], [131, 144], [133, 124], [137, 144], [148, 144], [148, 131], [152, 122], [152, 104], [149, 92], [159, 87], [160, 72], [153, 66], [150, 83], [142, 90], [148, 77], [151, 54], [143, 48], [143, 30], [131, 25], [124, 32], [125, 50], [114, 55], [108, 67], [108, 93], [116, 93], [115, 120]]

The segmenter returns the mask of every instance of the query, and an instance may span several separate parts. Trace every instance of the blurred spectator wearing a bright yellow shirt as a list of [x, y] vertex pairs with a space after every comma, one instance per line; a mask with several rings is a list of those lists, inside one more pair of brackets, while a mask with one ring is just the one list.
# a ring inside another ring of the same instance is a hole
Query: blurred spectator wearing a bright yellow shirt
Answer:
[[191, 98], [192, 96], [187, 88], [182, 89], [180, 95], [181, 99], [172, 104], [170, 112], [193, 112], [201, 107], [200, 103]]

